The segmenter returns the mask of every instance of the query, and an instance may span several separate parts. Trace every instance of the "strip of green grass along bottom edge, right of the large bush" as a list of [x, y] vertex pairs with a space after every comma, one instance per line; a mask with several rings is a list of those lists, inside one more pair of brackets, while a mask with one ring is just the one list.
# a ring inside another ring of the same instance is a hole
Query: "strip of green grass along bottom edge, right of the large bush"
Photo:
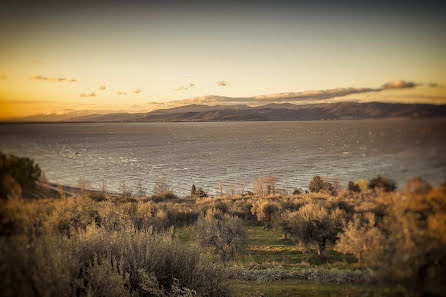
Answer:
[[229, 286], [237, 297], [381, 297], [412, 296], [401, 286], [365, 286], [352, 284], [323, 284], [312, 281], [280, 280], [265, 283], [230, 281]]

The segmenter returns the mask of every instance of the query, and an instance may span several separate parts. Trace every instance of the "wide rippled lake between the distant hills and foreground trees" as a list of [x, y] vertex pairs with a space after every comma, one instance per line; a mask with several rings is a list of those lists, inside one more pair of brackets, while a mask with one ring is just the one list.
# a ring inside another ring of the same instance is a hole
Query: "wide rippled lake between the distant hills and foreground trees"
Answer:
[[446, 180], [446, 120], [229, 123], [3, 124], [0, 149], [34, 158], [50, 181], [80, 177], [119, 189], [165, 176], [185, 195], [192, 183], [214, 193], [274, 175], [305, 188], [314, 175], [348, 180], [413, 176]]

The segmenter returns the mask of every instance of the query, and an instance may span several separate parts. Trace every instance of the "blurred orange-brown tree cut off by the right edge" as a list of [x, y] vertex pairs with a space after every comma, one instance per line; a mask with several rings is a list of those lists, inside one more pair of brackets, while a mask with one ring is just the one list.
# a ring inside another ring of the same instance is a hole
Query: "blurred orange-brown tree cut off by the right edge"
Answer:
[[446, 186], [392, 201], [383, 221], [383, 254], [392, 276], [412, 279], [423, 290], [429, 277], [446, 275]]

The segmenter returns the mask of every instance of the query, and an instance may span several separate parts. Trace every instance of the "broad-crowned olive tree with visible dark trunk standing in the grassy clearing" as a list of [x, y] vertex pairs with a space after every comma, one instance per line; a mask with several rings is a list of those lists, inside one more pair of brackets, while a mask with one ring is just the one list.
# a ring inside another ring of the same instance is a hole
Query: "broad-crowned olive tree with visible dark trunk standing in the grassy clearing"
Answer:
[[317, 244], [317, 254], [322, 257], [327, 241], [334, 242], [345, 224], [345, 212], [339, 208], [329, 210], [320, 203], [308, 203], [297, 211], [288, 211], [283, 219], [288, 222], [288, 232], [296, 240]]

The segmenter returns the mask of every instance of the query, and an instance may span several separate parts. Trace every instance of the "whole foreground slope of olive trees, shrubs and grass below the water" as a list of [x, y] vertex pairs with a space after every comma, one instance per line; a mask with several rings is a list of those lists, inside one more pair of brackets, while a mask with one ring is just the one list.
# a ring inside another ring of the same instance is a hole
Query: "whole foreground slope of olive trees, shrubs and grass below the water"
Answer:
[[[446, 186], [377, 177], [311, 193], [0, 201], [3, 296], [442, 296]], [[424, 295], [423, 295], [424, 294]]]

